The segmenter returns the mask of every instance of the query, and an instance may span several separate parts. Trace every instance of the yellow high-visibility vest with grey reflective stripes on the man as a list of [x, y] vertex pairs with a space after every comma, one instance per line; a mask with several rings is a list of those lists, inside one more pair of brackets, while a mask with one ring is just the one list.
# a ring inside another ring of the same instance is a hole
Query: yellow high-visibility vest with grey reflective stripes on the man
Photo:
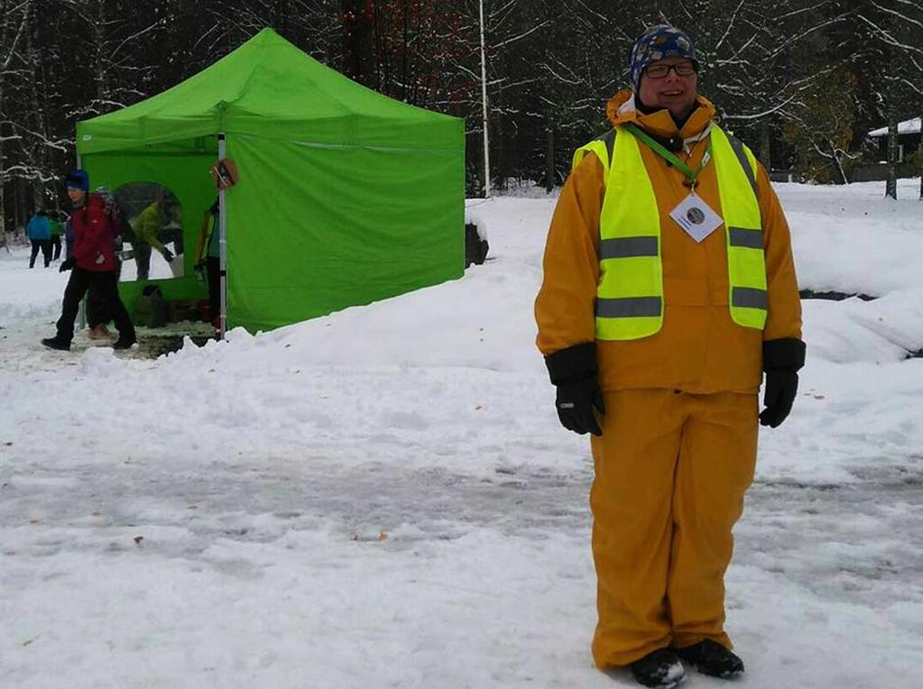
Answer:
[[[607, 171], [600, 217], [596, 338], [641, 339], [659, 332], [664, 322], [660, 211], [638, 139], [621, 127], [610, 134], [616, 135], [614, 146], [610, 135], [605, 135], [578, 148], [573, 157], [576, 167], [592, 151]], [[766, 266], [756, 159], [749, 148], [716, 125], [712, 147], [725, 209], [731, 318], [737, 325], [762, 329], [767, 314]]]

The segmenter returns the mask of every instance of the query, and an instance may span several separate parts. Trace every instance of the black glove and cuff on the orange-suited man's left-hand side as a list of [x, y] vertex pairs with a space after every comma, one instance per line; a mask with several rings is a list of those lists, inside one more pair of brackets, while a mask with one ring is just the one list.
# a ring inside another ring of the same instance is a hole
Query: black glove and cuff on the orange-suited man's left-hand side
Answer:
[[574, 433], [602, 435], [593, 410], [605, 414], [596, 379], [596, 345], [586, 342], [545, 357], [551, 382], [557, 386], [557, 418]]

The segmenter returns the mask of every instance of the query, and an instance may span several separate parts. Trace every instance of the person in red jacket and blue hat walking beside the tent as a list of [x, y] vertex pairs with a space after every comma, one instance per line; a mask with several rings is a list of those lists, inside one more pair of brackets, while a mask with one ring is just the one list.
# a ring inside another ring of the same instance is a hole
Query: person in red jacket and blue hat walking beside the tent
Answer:
[[61, 317], [56, 324], [57, 334], [54, 338], [42, 339], [42, 344], [53, 350], [70, 349], [80, 300], [90, 286], [94, 286], [118, 329], [119, 337], [113, 348], [126, 350], [135, 344], [137, 338], [125, 304], [118, 295], [118, 264], [105, 201], [98, 194], [89, 194], [90, 175], [83, 170], [70, 172], [66, 187], [67, 196], [74, 204], [71, 215], [74, 248], [73, 255], [62, 264], [62, 269], [71, 269], [71, 274], [64, 291]]

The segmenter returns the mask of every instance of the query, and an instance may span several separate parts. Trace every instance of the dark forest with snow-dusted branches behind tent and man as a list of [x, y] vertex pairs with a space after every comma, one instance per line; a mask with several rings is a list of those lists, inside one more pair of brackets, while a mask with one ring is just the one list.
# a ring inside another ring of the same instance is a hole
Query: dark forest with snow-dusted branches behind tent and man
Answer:
[[[371, 89], [463, 117], [467, 193], [484, 189], [479, 0], [0, 0], [0, 232], [63, 198], [78, 120], [169, 89], [265, 27]], [[923, 115], [923, 0], [483, 0], [492, 187], [550, 188], [603, 133], [642, 30], [672, 23], [700, 91], [773, 170], [845, 183]], [[923, 193], [923, 189], [921, 189]], [[0, 235], [2, 236], [2, 235]]]

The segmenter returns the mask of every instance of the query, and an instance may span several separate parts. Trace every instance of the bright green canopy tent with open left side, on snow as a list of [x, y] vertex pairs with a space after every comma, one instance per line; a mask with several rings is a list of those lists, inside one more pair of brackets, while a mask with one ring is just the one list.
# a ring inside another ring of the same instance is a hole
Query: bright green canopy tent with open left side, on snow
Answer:
[[[92, 185], [162, 184], [185, 244], [222, 192], [228, 327], [270, 329], [461, 277], [464, 128], [366, 89], [262, 30], [147, 101], [78, 123]], [[220, 151], [220, 148], [224, 148]], [[151, 280], [168, 300], [202, 299], [188, 277]], [[148, 282], [123, 282], [129, 310]]]

